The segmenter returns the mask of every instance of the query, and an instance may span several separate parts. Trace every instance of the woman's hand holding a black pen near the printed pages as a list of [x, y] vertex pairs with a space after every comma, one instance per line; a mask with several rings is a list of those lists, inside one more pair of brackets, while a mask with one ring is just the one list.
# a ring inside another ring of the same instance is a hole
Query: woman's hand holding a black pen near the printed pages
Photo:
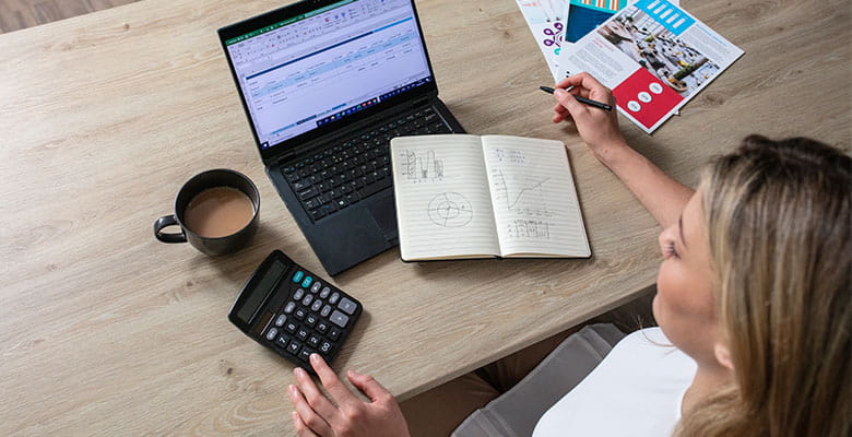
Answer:
[[[565, 88], [573, 86], [570, 91]], [[556, 84], [554, 97], [558, 101], [554, 110], [553, 122], [573, 120], [577, 131], [592, 152], [602, 157], [613, 147], [626, 146], [627, 143], [618, 129], [618, 115], [615, 110], [604, 110], [577, 102], [573, 95], [606, 103], [615, 108], [615, 97], [612, 91], [597, 82], [589, 73], [575, 74]]]

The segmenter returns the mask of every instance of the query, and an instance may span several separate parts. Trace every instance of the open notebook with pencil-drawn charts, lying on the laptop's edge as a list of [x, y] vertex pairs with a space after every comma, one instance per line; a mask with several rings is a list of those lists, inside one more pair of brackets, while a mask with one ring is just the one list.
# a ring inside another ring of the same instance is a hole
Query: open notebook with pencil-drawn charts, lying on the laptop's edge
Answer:
[[400, 137], [391, 156], [404, 261], [591, 256], [558, 141]]

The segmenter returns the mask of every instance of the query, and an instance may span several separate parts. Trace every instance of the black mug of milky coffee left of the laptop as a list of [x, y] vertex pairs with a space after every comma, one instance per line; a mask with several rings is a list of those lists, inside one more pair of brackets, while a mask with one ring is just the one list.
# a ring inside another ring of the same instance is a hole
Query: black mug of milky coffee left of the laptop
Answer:
[[[175, 214], [154, 223], [163, 243], [187, 243], [212, 256], [237, 251], [258, 229], [260, 194], [245, 175], [217, 168], [193, 176], [178, 191]], [[164, 233], [179, 226], [180, 233]]]

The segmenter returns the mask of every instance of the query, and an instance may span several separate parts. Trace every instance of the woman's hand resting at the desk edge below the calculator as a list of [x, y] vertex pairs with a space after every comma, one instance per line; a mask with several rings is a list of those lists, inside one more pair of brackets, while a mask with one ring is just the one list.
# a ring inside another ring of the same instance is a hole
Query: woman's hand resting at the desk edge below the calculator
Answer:
[[350, 391], [318, 354], [310, 355], [310, 364], [322, 387], [334, 400], [334, 405], [313, 383], [307, 371], [296, 368], [297, 386], [287, 387], [296, 406], [293, 423], [301, 437], [406, 437], [409, 426], [400, 405], [372, 377], [347, 371], [346, 378], [370, 402], [364, 402]]

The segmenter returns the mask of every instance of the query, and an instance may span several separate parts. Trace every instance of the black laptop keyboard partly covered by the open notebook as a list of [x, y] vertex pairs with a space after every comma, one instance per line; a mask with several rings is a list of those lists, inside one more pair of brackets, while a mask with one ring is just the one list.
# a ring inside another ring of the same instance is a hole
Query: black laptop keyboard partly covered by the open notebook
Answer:
[[451, 132], [428, 107], [353, 133], [347, 141], [284, 166], [282, 173], [317, 222], [393, 185], [389, 154], [392, 138]]

